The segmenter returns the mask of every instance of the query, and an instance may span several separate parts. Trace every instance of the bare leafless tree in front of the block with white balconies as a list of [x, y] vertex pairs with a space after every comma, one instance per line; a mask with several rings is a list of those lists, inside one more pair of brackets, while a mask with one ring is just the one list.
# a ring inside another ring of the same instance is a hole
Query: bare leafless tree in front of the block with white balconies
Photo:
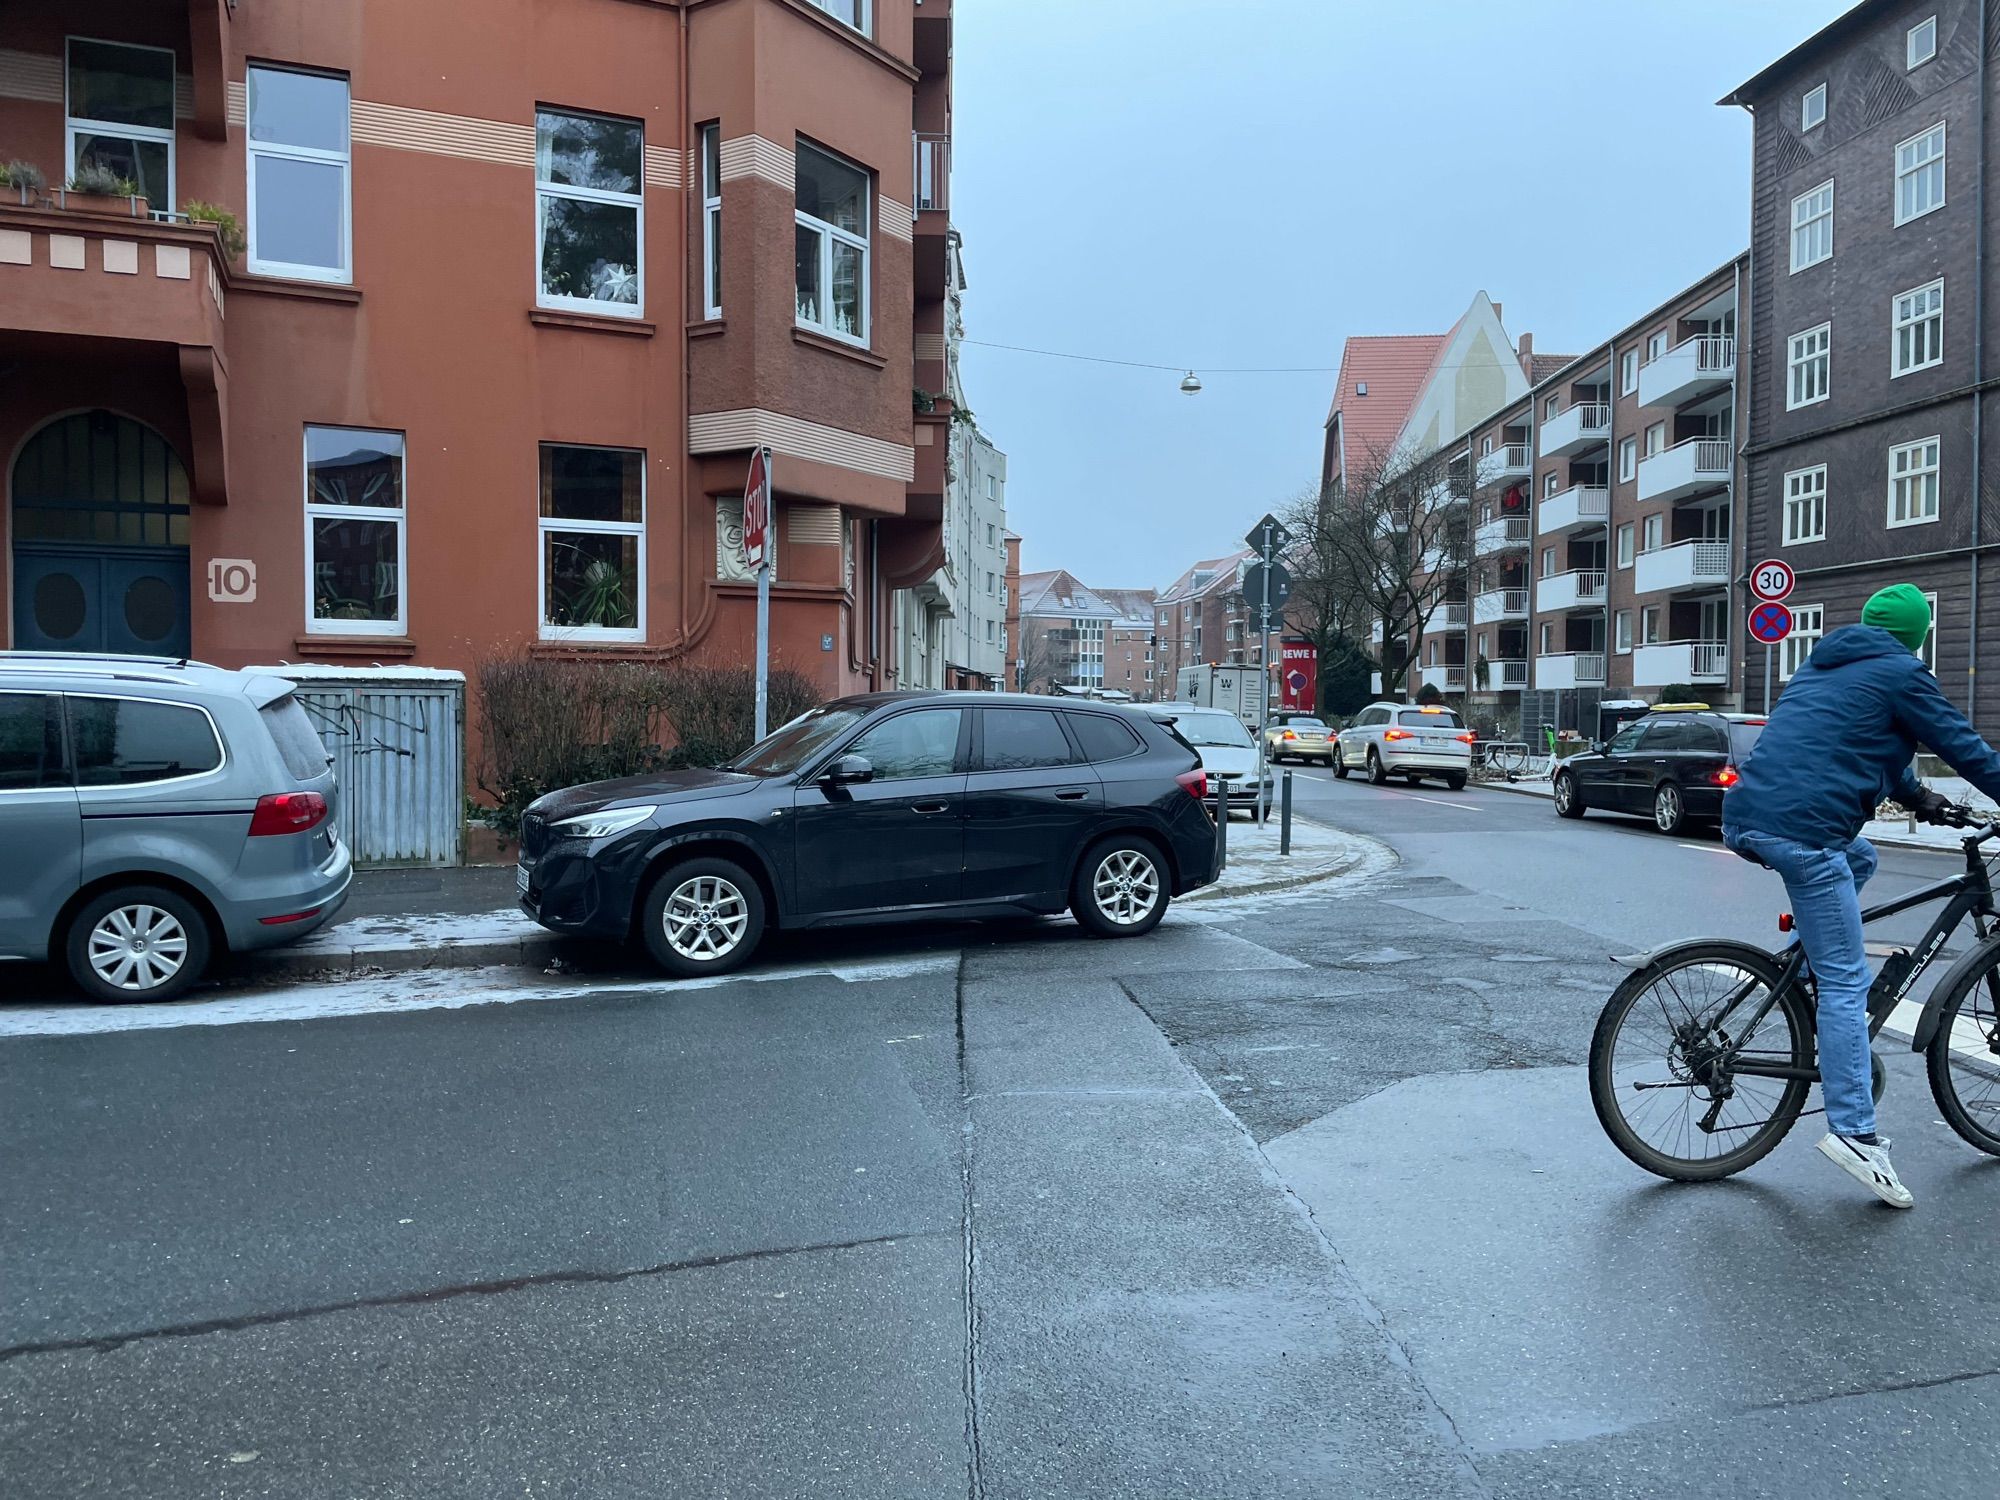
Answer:
[[1464, 462], [1444, 454], [1366, 454], [1292, 502], [1292, 596], [1322, 664], [1380, 624], [1382, 686], [1402, 682], [1438, 610], [1464, 598], [1470, 492]]

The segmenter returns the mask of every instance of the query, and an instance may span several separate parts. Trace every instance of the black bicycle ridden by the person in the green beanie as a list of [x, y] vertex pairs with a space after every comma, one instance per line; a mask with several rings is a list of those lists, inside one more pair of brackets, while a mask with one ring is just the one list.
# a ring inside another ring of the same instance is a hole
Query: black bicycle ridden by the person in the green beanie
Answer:
[[[1958, 806], [1946, 808], [1940, 822], [1978, 830], [1962, 840], [1964, 874], [1862, 912], [1864, 924], [1880, 922], [1950, 898], [1914, 950], [1898, 950], [1882, 964], [1868, 992], [1868, 1036], [1880, 1034], [1946, 940], [1972, 918], [1978, 942], [1924, 1002], [1910, 1050], [1926, 1058], [1946, 1124], [1970, 1146], [2000, 1156], [2000, 912], [1980, 854], [1982, 844], [2000, 838], [2000, 822], [1980, 822]], [[1790, 930], [1788, 918], [1780, 926]], [[1742, 1172], [1784, 1140], [1820, 1080], [1804, 946], [1794, 938], [1772, 954], [1748, 942], [1694, 940], [1642, 954], [1636, 964], [1612, 990], [1590, 1038], [1598, 1124], [1620, 1152], [1662, 1178], [1712, 1182]], [[1884, 1080], [1876, 1056], [1876, 1098]]]

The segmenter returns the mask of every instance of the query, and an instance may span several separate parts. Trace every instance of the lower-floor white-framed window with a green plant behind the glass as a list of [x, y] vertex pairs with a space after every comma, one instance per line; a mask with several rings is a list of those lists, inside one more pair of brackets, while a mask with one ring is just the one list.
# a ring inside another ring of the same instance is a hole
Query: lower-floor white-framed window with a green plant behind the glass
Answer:
[[646, 638], [646, 454], [542, 444], [542, 636]]

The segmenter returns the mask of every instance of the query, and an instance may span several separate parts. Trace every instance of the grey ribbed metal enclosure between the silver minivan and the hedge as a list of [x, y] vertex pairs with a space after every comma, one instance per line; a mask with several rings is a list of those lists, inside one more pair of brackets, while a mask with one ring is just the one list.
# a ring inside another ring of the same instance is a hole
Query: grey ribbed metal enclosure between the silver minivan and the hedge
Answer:
[[460, 864], [466, 678], [396, 666], [278, 666], [298, 682], [340, 782], [340, 834], [360, 866]]

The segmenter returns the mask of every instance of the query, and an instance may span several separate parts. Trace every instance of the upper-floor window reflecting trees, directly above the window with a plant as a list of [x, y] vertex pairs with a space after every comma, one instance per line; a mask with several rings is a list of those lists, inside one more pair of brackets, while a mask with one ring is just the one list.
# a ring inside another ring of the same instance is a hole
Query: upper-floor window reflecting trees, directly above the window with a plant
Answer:
[[638, 318], [646, 304], [642, 128], [536, 110], [534, 186], [536, 302]]

